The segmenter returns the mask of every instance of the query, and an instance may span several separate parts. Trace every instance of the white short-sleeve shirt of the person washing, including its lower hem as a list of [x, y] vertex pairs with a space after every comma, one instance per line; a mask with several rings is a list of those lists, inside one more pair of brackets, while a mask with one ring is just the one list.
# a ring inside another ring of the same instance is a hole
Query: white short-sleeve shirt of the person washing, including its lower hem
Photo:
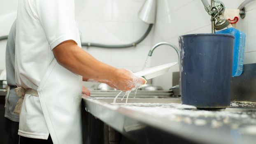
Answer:
[[[16, 23], [16, 84], [37, 89], [54, 59], [52, 49], [70, 39], [81, 46], [74, 0], [19, 0]], [[19, 135], [47, 139], [39, 98], [26, 95], [23, 102]]]

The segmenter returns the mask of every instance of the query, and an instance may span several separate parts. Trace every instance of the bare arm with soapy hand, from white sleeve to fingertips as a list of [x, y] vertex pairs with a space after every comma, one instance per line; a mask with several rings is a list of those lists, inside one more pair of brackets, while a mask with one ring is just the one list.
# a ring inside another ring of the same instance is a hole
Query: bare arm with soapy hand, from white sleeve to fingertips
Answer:
[[53, 49], [53, 53], [60, 65], [83, 76], [83, 80], [94, 79], [121, 91], [130, 91], [145, 83], [144, 79], [128, 70], [116, 69], [96, 60], [73, 40], [62, 42]]

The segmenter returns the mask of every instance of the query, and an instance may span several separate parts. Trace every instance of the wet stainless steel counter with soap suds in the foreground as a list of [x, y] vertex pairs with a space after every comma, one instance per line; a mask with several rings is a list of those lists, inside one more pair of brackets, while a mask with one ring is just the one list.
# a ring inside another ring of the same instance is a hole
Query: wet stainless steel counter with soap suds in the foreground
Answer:
[[[88, 112], [124, 135], [129, 135], [132, 130], [145, 128], [142, 125], [150, 125], [195, 143], [255, 144], [256, 142], [256, 103], [254, 102], [231, 102], [230, 108], [205, 110], [182, 105], [179, 98], [162, 99], [160, 103], [157, 99], [153, 100], [153, 103], [133, 103], [131, 98], [130, 103], [128, 101], [127, 104], [120, 103], [120, 100], [119, 103], [112, 103], [113, 98], [87, 96], [83, 98]], [[163, 103], [164, 101], [166, 103]]]

